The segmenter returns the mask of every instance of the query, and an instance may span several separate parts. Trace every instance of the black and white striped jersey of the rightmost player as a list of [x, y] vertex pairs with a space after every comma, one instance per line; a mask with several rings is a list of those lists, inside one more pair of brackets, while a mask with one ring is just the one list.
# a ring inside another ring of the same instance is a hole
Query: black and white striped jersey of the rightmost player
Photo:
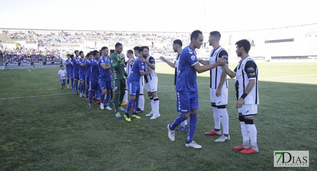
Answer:
[[233, 72], [236, 73], [235, 84], [237, 100], [243, 95], [249, 84], [249, 80], [255, 79], [256, 83], [251, 92], [244, 98], [244, 104], [259, 104], [258, 68], [254, 59], [248, 56], [247, 58], [240, 60]]

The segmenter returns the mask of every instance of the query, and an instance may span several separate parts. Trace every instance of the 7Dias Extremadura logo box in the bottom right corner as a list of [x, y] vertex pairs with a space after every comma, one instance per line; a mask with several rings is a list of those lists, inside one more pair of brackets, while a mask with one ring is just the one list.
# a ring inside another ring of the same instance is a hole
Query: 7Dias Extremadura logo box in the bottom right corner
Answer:
[[274, 167], [309, 167], [309, 151], [274, 151]]

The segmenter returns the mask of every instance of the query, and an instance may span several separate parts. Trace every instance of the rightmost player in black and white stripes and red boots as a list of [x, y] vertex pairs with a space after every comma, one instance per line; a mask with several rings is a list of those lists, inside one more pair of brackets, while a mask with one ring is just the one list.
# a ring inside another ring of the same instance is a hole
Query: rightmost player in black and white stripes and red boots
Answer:
[[[236, 77], [236, 108], [239, 113], [243, 144], [233, 147], [235, 150], [241, 150], [240, 153], [257, 153], [257, 131], [253, 123], [253, 116], [257, 114], [257, 105], [259, 104], [258, 93], [258, 68], [253, 58], [249, 56], [250, 42], [248, 40], [239, 40], [236, 42], [236, 53], [241, 57], [238, 66], [231, 71], [227, 65], [223, 65], [230, 78]], [[221, 62], [221, 59], [218, 59]], [[249, 145], [249, 139], [251, 146]]]

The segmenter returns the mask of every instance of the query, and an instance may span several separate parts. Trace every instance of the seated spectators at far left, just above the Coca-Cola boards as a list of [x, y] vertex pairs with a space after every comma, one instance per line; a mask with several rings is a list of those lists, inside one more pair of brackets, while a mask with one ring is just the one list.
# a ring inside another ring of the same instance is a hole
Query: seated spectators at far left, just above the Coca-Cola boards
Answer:
[[3, 62], [36, 62], [41, 61], [41, 54], [34, 48], [6, 48], [3, 52]]

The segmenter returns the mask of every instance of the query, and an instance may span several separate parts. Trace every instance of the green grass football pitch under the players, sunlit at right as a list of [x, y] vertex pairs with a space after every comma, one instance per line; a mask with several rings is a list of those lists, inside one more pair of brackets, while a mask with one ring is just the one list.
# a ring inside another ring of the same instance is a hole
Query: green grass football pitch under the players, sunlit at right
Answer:
[[[0, 70], [0, 170], [317, 170], [317, 62], [257, 65], [259, 153], [249, 155], [232, 149], [242, 143], [234, 79], [228, 79], [231, 140], [216, 143], [219, 136], [204, 134], [214, 128], [209, 71], [197, 74], [197, 150], [185, 147], [184, 131], [175, 130], [173, 142], [167, 136], [178, 115], [174, 68], [167, 64], [156, 65], [161, 117], [145, 116], [151, 110], [145, 94], [145, 113], [131, 122], [97, 103], [89, 107], [70, 88], [62, 91], [60, 68]], [[274, 167], [275, 150], [309, 151], [309, 167]]]

